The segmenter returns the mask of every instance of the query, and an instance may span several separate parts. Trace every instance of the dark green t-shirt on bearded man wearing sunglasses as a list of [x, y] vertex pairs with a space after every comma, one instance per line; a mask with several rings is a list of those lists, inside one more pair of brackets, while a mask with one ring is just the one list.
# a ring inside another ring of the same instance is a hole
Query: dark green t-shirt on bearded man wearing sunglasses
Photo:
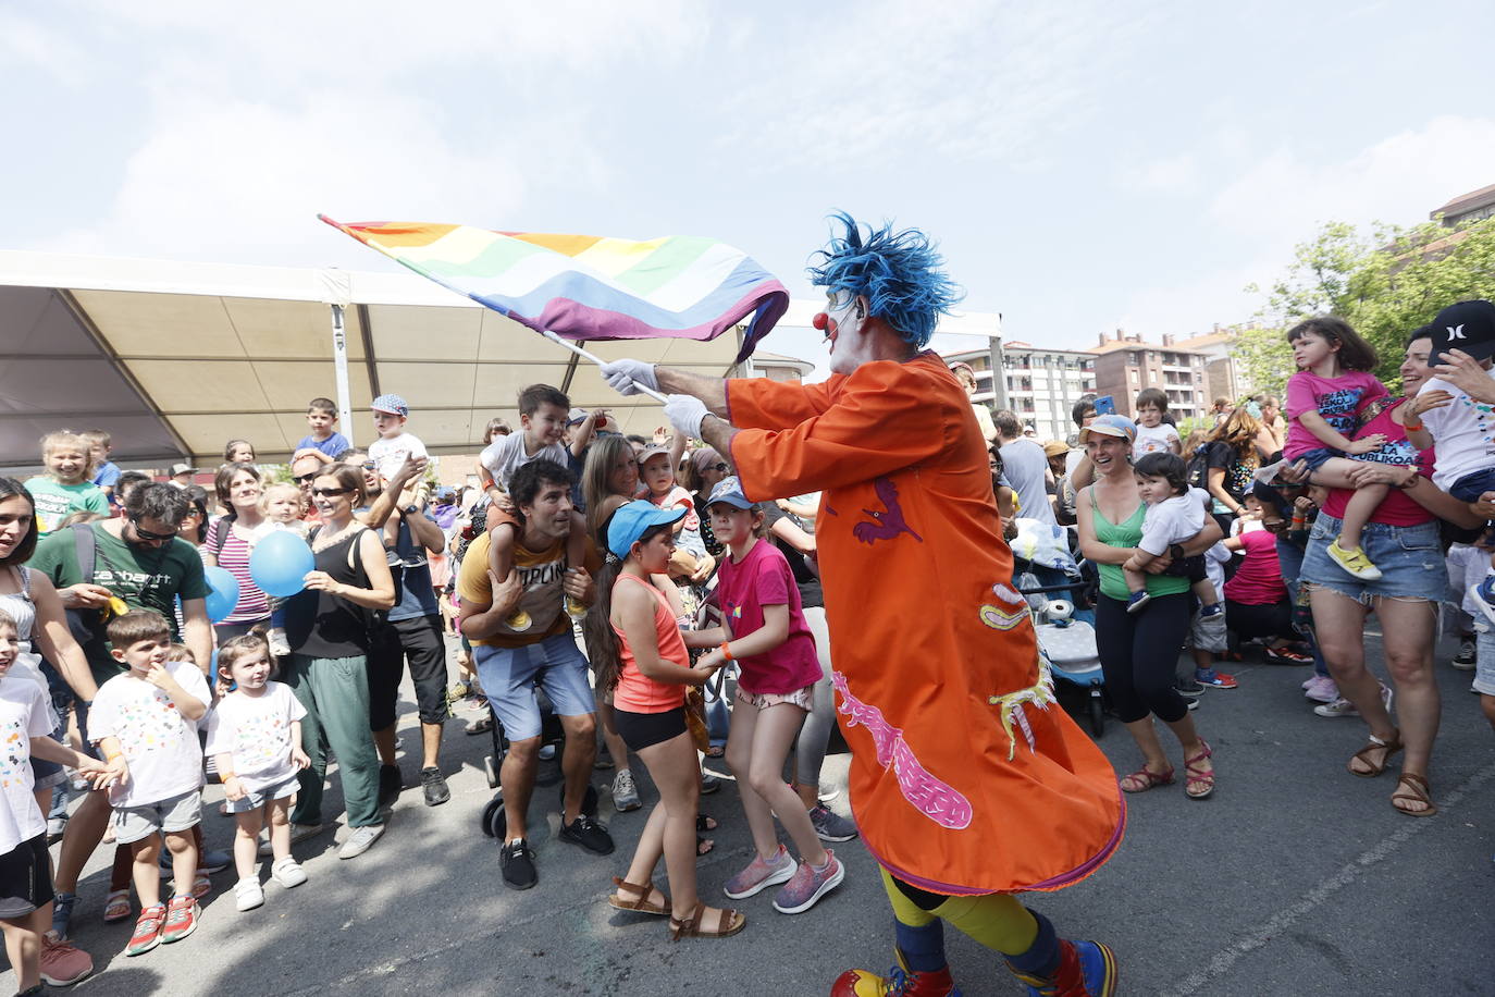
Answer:
[[[176, 632], [176, 599], [205, 599], [212, 590], [202, 570], [197, 549], [185, 540], [173, 540], [160, 547], [132, 547], [99, 523], [90, 523], [94, 534], [94, 572], [82, 577], [78, 567], [78, 540], [72, 529], [63, 529], [36, 546], [28, 567], [48, 575], [58, 589], [70, 584], [102, 584], [132, 610], [155, 610]], [[96, 638], [84, 644], [84, 655], [100, 686], [121, 674], [124, 665], [109, 655], [103, 626]]]

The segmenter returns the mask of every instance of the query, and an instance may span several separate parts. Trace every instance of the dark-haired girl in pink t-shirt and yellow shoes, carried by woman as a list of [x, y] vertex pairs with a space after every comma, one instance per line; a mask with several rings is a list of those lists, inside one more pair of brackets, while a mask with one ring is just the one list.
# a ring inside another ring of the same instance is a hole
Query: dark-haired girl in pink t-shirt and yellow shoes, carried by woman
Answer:
[[1383, 433], [1354, 439], [1357, 416], [1386, 386], [1375, 380], [1375, 350], [1350, 323], [1334, 315], [1301, 321], [1287, 330], [1298, 374], [1287, 380], [1287, 445], [1283, 456], [1305, 462], [1310, 480], [1331, 489], [1356, 489], [1344, 510], [1340, 535], [1329, 543], [1329, 556], [1356, 578], [1374, 581], [1380, 568], [1360, 549], [1360, 531], [1386, 498], [1384, 484], [1356, 486], [1351, 459], [1380, 450]]

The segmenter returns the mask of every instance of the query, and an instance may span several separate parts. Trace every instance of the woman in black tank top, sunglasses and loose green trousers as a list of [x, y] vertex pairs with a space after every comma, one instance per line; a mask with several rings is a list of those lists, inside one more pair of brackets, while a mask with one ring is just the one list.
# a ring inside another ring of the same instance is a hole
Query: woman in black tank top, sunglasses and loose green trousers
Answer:
[[330, 465], [311, 484], [321, 525], [311, 534], [317, 567], [306, 587], [286, 602], [286, 640], [292, 655], [281, 680], [306, 709], [302, 750], [311, 767], [300, 773], [292, 812], [292, 842], [321, 831], [321, 786], [327, 747], [338, 755], [342, 798], [353, 831], [338, 858], [356, 858], [384, 833], [378, 809], [378, 755], [369, 732], [369, 616], [395, 605], [395, 581], [377, 534], [353, 517], [368, 493], [363, 472]]

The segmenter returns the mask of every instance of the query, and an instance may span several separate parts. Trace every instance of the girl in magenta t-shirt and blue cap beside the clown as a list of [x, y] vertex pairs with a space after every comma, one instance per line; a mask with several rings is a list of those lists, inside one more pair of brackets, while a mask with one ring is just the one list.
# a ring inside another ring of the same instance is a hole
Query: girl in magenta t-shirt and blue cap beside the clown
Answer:
[[[737, 776], [758, 849], [724, 891], [742, 900], [785, 883], [773, 900], [774, 910], [801, 913], [846, 877], [836, 855], [821, 845], [800, 797], [783, 782], [783, 762], [810, 712], [821, 662], [789, 562], [761, 538], [764, 514], [743, 496], [737, 478], [724, 478], [712, 489], [707, 511], [712, 532], [728, 547], [716, 581], [724, 625], [691, 631], [685, 640], [691, 647], [712, 647], [698, 667], [719, 661], [742, 667], [727, 764]], [[800, 852], [798, 864], [779, 843], [774, 815]]]

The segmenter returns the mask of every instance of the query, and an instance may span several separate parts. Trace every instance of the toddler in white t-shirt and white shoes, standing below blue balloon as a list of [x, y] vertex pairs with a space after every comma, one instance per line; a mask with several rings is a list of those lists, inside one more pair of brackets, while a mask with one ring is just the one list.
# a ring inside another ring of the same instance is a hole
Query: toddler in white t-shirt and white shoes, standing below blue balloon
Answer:
[[233, 864], [239, 873], [233, 900], [239, 910], [265, 903], [256, 854], [266, 818], [275, 856], [271, 879], [286, 888], [306, 882], [306, 873], [290, 854], [290, 804], [298, 773], [311, 764], [300, 749], [306, 707], [290, 686], [271, 682], [274, 673], [269, 646], [257, 632], [235, 637], [218, 649], [218, 686], [224, 697], [208, 717], [206, 752], [218, 761], [229, 813], [239, 825], [233, 837]]

